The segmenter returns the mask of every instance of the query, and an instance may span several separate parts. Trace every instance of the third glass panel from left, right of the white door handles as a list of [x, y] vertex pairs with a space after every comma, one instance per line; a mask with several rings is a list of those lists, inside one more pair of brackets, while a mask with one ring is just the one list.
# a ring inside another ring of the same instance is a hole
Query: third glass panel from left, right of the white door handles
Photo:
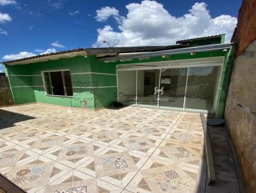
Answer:
[[160, 79], [159, 107], [184, 107], [188, 68], [162, 69]]

